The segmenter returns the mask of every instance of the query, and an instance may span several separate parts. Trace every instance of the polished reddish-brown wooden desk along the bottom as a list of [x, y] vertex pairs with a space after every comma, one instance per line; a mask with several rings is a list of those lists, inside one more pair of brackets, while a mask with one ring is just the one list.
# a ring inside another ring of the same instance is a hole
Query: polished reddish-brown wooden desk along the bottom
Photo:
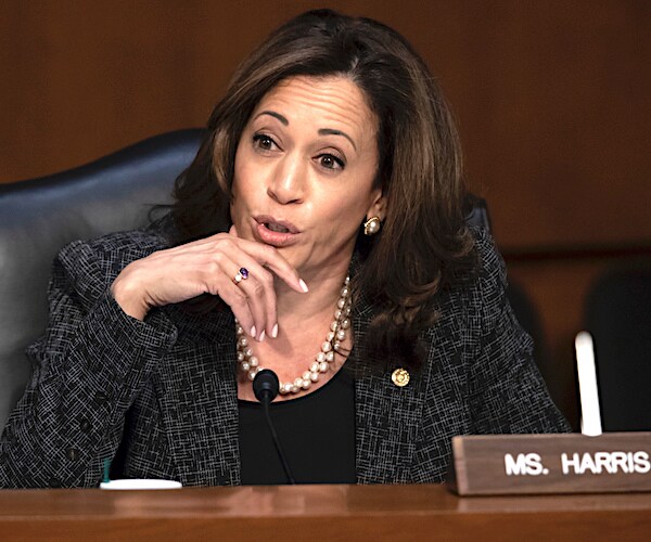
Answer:
[[650, 540], [651, 493], [458, 498], [441, 486], [0, 490], [0, 540]]

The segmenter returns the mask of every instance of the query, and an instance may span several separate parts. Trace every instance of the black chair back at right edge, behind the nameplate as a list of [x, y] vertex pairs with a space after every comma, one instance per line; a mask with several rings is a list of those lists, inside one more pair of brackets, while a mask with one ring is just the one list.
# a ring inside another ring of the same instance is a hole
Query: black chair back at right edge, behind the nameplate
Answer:
[[603, 430], [651, 430], [651, 261], [599, 278], [585, 325], [595, 343]]

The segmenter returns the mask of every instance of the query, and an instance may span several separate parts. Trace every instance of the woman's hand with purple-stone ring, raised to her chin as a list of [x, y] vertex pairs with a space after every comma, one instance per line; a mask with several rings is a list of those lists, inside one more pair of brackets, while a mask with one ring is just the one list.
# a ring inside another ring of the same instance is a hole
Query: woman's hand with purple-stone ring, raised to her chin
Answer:
[[[240, 268], [248, 278], [235, 283]], [[153, 307], [191, 299], [201, 294], [219, 296], [252, 337], [276, 337], [273, 275], [299, 293], [307, 292], [297, 271], [271, 246], [228, 233], [159, 250], [129, 263], [111, 286], [122, 309], [143, 320]]]

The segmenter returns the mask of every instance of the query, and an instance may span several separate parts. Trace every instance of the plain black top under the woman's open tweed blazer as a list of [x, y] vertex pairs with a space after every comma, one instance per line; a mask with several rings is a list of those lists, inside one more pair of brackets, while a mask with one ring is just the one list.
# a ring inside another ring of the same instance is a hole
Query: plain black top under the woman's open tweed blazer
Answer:
[[[288, 483], [265, 412], [239, 400], [243, 485]], [[340, 370], [304, 397], [271, 403], [271, 421], [296, 483], [355, 483], [355, 386]]]

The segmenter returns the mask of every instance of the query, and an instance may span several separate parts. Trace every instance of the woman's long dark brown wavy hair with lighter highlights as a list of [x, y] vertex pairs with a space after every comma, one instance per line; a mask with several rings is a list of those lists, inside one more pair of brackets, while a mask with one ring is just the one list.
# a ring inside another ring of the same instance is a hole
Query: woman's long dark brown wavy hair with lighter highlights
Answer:
[[418, 333], [436, 321], [436, 294], [473, 269], [475, 255], [450, 109], [425, 63], [392, 28], [316, 10], [273, 31], [233, 75], [196, 158], [177, 179], [177, 241], [228, 230], [242, 131], [261, 98], [298, 75], [349, 78], [379, 120], [376, 182], [387, 216], [380, 234], [358, 236], [353, 288], [374, 309], [365, 347], [418, 366]]

